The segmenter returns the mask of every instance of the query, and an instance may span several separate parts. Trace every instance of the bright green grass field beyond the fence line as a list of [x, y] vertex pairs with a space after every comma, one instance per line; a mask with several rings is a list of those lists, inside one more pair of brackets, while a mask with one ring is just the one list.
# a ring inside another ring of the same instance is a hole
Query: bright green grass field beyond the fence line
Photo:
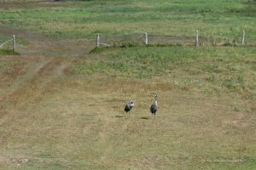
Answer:
[[[28, 8], [29, 7], [29, 8]], [[247, 0], [234, 1], [70, 1], [18, 3], [2, 8], [1, 27], [39, 31], [50, 37], [81, 38], [103, 35], [143, 33], [195, 37], [222, 37], [256, 40], [256, 9]]]

